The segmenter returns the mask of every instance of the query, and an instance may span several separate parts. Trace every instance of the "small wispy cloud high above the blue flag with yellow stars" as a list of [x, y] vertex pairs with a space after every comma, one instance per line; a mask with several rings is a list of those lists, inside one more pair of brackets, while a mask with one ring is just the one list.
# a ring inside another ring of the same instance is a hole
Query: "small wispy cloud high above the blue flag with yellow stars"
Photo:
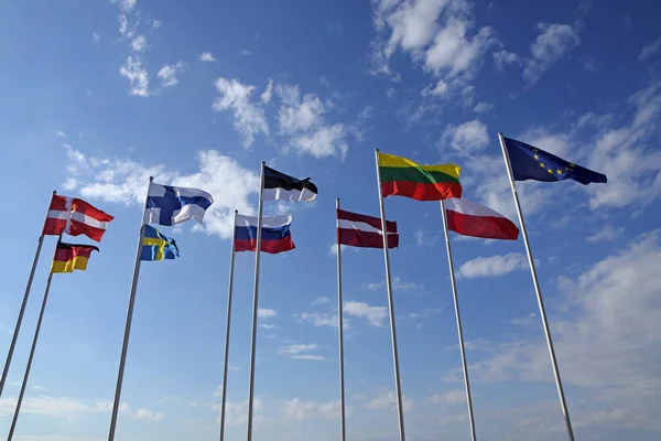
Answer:
[[581, 43], [578, 32], [568, 24], [539, 23], [537, 28], [540, 34], [530, 45], [531, 58], [523, 71], [529, 84], [537, 83], [544, 71]]

